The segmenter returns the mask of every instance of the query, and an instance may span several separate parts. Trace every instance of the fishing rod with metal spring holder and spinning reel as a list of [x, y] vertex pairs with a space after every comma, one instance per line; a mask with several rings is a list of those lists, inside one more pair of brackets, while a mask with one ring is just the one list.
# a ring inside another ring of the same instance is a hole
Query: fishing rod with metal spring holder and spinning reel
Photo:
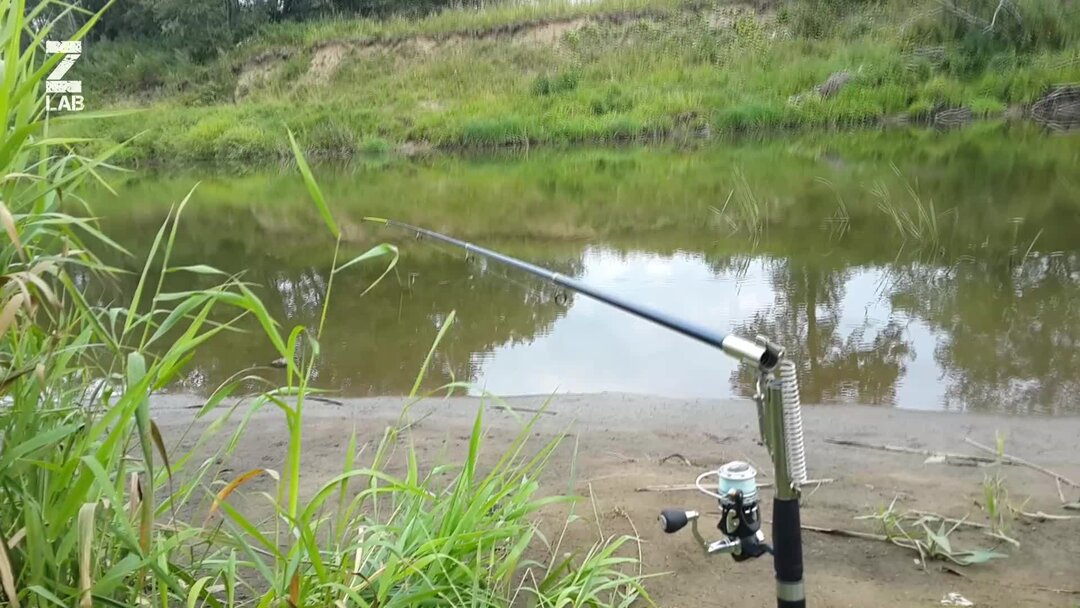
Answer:
[[[698, 511], [664, 509], [660, 527], [667, 533], [676, 532], [687, 524], [693, 538], [708, 554], [729, 554], [735, 562], [773, 556], [777, 575], [778, 608], [804, 608], [806, 592], [802, 583], [802, 536], [799, 527], [799, 488], [807, 481], [806, 450], [802, 441], [802, 414], [799, 406], [799, 386], [795, 364], [784, 356], [783, 348], [762, 336], [750, 340], [732, 334], [719, 334], [707, 327], [671, 316], [616, 294], [598, 289], [565, 274], [541, 268], [517, 258], [460, 241], [453, 237], [392, 219], [365, 217], [363, 221], [399, 228], [416, 235], [430, 238], [464, 249], [467, 256], [483, 258], [539, 276], [571, 292], [618, 308], [635, 316], [651, 321], [711, 347], [720, 349], [740, 362], [753, 365], [757, 373], [753, 400], [757, 404], [758, 427], [772, 458], [775, 494], [772, 499], [772, 545], [761, 531], [757, 471], [742, 461], [724, 464], [716, 471], [698, 476], [696, 486], [720, 504], [717, 528], [724, 539], [706, 541], [698, 530]], [[705, 484], [715, 476], [716, 481]]]

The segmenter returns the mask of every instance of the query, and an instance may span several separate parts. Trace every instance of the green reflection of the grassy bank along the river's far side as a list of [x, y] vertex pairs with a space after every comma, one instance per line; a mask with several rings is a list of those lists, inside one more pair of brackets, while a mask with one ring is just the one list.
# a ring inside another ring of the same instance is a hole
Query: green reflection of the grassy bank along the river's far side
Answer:
[[[805, 255], [798, 247], [842, 230], [842, 239], [829, 242], [864, 264], [891, 260], [917, 244], [941, 245], [949, 259], [1013, 247], [1022, 254], [1037, 235], [1039, 251], [1069, 247], [1080, 190], [1062, 176], [1072, 171], [1076, 154], [1068, 137], [986, 123], [946, 134], [828, 133], [693, 151], [652, 145], [367, 159], [315, 173], [357, 239], [353, 245], [363, 243], [365, 215], [512, 247], [525, 239], [640, 239], [644, 230], [657, 235], [654, 244], [725, 235], [730, 252], [744, 251], [747, 237], [757, 234], [762, 246], [781, 247], [777, 255]], [[237, 175], [232, 166], [159, 172], [118, 179], [121, 197], [100, 189], [89, 195], [107, 226], [137, 240], [125, 245], [145, 251], [149, 227], [197, 179], [198, 204], [188, 211], [197, 224], [258, 221], [259, 230], [221, 235], [233, 246], [242, 240], [245, 257], [267, 255], [266, 234], [280, 233], [299, 239], [291, 259], [325, 258], [302, 244], [313, 212], [287, 174]], [[186, 242], [185, 264], [195, 262], [207, 237]]]

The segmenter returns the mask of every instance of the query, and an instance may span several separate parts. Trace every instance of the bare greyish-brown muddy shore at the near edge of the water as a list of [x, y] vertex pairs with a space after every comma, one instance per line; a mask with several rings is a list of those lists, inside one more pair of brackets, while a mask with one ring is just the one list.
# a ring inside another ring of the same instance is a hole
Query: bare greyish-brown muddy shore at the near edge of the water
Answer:
[[[509, 400], [514, 407], [537, 408], [543, 397]], [[154, 418], [172, 445], [193, 415], [198, 397], [161, 396]], [[383, 428], [397, 420], [403, 400], [347, 400], [341, 405], [312, 404], [306, 411], [303, 483], [309, 489], [339, 472], [342, 450], [355, 428], [362, 442], [377, 441]], [[414, 408], [411, 441], [428, 463], [453, 461], [467, 448], [467, 437], [478, 401], [432, 400]], [[712, 511], [714, 504], [696, 492], [636, 491], [661, 484], [692, 483], [699, 471], [731, 459], [765, 464], [757, 444], [756, 416], [748, 402], [686, 401], [624, 394], [563, 395], [541, 416], [537, 440], [568, 429], [548, 470], [548, 487], [565, 488], [576, 478], [576, 490], [595, 497], [595, 512], [605, 535], [640, 533], [646, 571], [674, 572], [649, 581], [659, 606], [772, 606], [771, 563], [759, 559], [734, 564], [727, 557], [706, 558], [688, 535], [665, 536], [657, 528], [662, 506], [683, 505]], [[835, 483], [813, 490], [805, 500], [805, 524], [876, 531], [874, 522], [854, 521], [900, 497], [897, 506], [970, 515], [985, 523], [975, 504], [983, 497], [983, 478], [991, 468], [927, 464], [924, 457], [838, 446], [826, 438], [891, 444], [929, 450], [977, 454], [963, 443], [970, 436], [993, 445], [995, 433], [1008, 433], [1007, 451], [1080, 479], [1076, 449], [1080, 418], [1009, 418], [894, 410], [873, 407], [810, 406], [805, 409], [810, 476]], [[509, 444], [519, 422], [505, 413], [487, 416], [490, 438], [486, 456], [494, 458]], [[286, 433], [281, 415], [265, 410], [241, 442], [229, 469], [280, 468]], [[187, 442], [187, 440], [185, 441]], [[575, 463], [575, 445], [577, 457]], [[183, 447], [183, 446], [180, 446]], [[688, 467], [678, 454], [693, 463]], [[576, 474], [571, 475], [571, 465]], [[1054, 481], [1022, 467], [1002, 467], [1009, 499], [1027, 512], [1080, 515], [1061, 509]], [[232, 473], [233, 475], [235, 473]], [[226, 472], [222, 476], [228, 477]], [[761, 481], [769, 481], [764, 476]], [[260, 488], [262, 489], [262, 488]], [[1068, 500], [1080, 490], [1064, 487]], [[768, 495], [768, 492], [767, 492]], [[768, 501], [766, 501], [768, 503]], [[765, 508], [769, 517], [770, 509]], [[588, 519], [592, 506], [578, 510]], [[711, 528], [711, 525], [710, 525]], [[706, 528], [707, 529], [707, 528]], [[578, 526], [571, 543], [588, 545], [596, 526]], [[1020, 548], [983, 536], [978, 530], [955, 535], [954, 543], [995, 548], [1010, 554], [982, 566], [943, 569], [932, 562], [923, 570], [915, 554], [885, 542], [836, 538], [805, 532], [807, 591], [814, 606], [940, 606], [942, 597], [958, 592], [976, 606], [1075, 606], [1080, 603], [1080, 519], [1031, 523], [1015, 521], [1010, 535]], [[713, 535], [708, 535], [713, 536]], [[1058, 590], [1058, 591], [1054, 591]], [[1066, 593], [1063, 590], [1074, 590]]]

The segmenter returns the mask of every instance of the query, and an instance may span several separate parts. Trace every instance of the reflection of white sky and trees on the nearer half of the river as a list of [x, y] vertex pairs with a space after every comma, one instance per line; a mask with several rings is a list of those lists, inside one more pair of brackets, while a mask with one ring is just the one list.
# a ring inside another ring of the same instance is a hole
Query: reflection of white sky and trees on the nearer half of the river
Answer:
[[[1076, 411], [1080, 256], [985, 269], [919, 264], [832, 267], [769, 255], [653, 253], [571, 245], [541, 260], [687, 320], [789, 344], [807, 403], [1013, 413]], [[335, 282], [319, 386], [400, 394], [450, 311], [457, 323], [424, 387], [455, 380], [498, 394], [634, 392], [748, 396], [752, 375], [715, 350], [524, 275], [408, 251], [363, 298], [372, 272]], [[318, 324], [325, 268], [248, 268], [287, 326]], [[194, 285], [192, 285], [194, 286]], [[252, 329], [255, 329], [252, 327]], [[207, 391], [274, 356], [257, 333], [216, 340], [179, 388]]]

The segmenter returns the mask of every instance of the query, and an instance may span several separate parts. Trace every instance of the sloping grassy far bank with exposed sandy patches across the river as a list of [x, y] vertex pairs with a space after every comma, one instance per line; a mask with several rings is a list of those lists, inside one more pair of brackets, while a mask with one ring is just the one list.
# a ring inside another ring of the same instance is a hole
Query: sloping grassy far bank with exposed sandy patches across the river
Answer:
[[99, 43], [81, 77], [136, 111], [76, 133], [168, 162], [286, 158], [283, 125], [323, 157], [696, 139], [997, 117], [1080, 80], [1075, 6], [1024, 0], [994, 22], [998, 2], [962, 4], [548, 0], [279, 24], [201, 65]]

